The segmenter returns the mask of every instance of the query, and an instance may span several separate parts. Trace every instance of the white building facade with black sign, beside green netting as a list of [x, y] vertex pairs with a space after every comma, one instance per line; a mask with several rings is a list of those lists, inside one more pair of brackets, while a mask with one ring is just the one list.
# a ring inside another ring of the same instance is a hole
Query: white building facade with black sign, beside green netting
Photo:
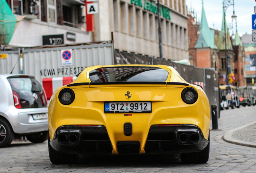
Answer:
[[17, 18], [9, 47], [90, 42], [85, 2], [80, 0], [6, 0]]

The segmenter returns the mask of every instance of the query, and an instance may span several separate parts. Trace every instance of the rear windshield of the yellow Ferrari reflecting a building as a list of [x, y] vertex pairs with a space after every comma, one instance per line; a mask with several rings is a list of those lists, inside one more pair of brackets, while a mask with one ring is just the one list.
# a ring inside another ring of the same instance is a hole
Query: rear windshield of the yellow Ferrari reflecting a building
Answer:
[[168, 71], [159, 67], [105, 67], [89, 73], [91, 82], [165, 82]]

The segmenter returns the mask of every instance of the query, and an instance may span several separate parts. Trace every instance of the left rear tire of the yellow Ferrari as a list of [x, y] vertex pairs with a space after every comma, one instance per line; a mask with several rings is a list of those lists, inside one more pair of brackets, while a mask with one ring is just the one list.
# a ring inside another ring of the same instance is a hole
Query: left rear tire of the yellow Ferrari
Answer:
[[53, 164], [70, 164], [77, 163], [78, 161], [78, 155], [76, 154], [58, 153], [55, 149], [53, 149], [50, 145], [50, 137], [48, 137], [48, 149], [50, 161]]

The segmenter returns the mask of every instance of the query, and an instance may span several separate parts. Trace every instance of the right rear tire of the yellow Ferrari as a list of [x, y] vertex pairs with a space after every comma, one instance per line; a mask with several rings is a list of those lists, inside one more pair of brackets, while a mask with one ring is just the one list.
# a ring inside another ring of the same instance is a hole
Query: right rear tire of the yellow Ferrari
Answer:
[[210, 155], [210, 134], [208, 141], [208, 145], [202, 151], [180, 154], [182, 163], [206, 163]]

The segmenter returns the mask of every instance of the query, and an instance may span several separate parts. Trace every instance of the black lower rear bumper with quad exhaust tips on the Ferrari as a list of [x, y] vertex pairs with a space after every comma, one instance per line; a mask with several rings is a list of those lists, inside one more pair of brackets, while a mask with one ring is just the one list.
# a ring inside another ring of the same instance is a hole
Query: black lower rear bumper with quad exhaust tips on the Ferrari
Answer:
[[[208, 140], [195, 125], [152, 125], [145, 141], [145, 154], [187, 153], [203, 150]], [[111, 143], [107, 129], [103, 125], [96, 127], [59, 127], [50, 141], [58, 152], [70, 154], [139, 154], [139, 141], [117, 141]], [[116, 146], [112, 146], [116, 145]], [[117, 148], [113, 150], [113, 148]]]

